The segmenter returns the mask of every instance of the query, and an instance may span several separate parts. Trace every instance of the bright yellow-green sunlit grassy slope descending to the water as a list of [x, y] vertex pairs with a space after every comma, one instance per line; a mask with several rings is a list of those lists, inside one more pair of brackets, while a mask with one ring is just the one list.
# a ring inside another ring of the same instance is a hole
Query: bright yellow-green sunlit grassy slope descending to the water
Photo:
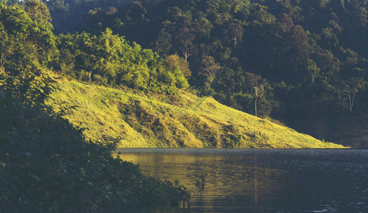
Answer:
[[71, 107], [65, 117], [92, 141], [119, 138], [124, 148], [343, 148], [184, 91], [166, 96], [92, 85], [87, 108], [90, 86], [59, 83], [48, 104], [55, 111]]

